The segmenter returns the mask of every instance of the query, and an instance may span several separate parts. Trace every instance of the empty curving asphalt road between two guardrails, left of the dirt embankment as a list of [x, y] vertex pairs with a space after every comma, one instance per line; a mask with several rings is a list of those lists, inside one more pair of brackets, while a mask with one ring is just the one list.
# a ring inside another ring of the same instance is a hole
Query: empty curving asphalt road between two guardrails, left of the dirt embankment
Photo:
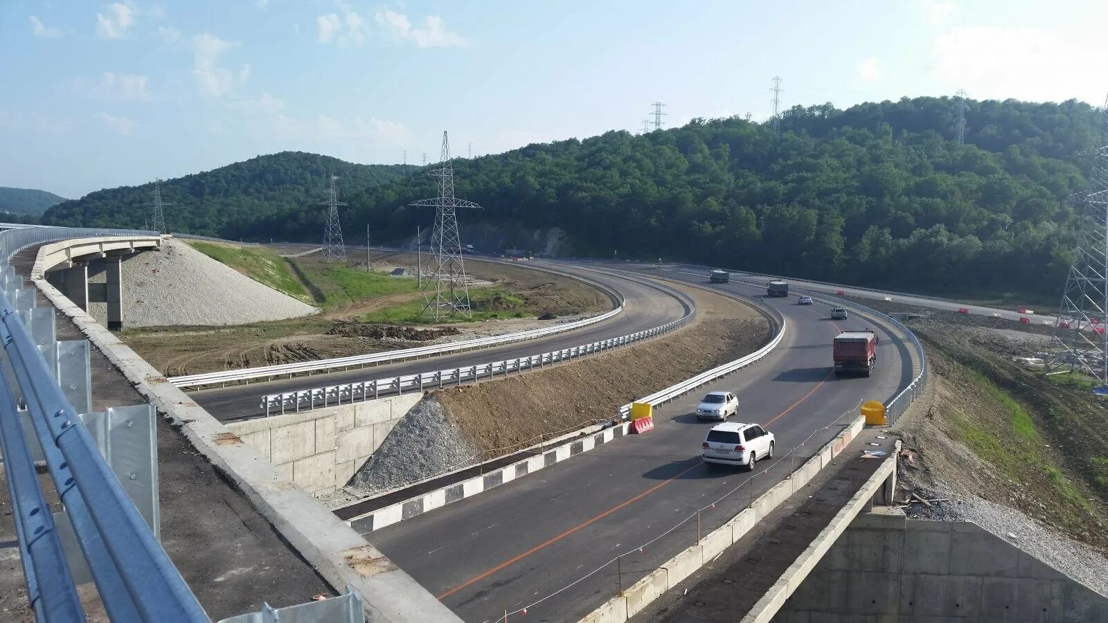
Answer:
[[576, 330], [552, 336], [506, 344], [479, 350], [454, 353], [389, 364], [369, 368], [339, 370], [268, 382], [252, 382], [226, 388], [202, 389], [189, 392], [196, 402], [220, 421], [234, 421], [261, 415], [260, 399], [266, 394], [278, 394], [309, 389], [326, 385], [359, 382], [378, 378], [440, 370], [497, 361], [515, 357], [526, 357], [618, 337], [643, 329], [654, 328], [676, 320], [691, 309], [691, 302], [679, 290], [653, 282], [629, 279], [618, 275], [607, 275], [583, 270], [572, 266], [558, 266], [558, 270], [576, 273], [599, 282], [624, 296], [624, 310], [614, 317]]

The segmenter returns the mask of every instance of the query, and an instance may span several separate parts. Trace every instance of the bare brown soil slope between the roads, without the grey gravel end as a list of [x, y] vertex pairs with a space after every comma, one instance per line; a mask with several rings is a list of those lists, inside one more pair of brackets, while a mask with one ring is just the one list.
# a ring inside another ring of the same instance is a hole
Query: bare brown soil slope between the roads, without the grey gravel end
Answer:
[[646, 344], [437, 394], [463, 438], [485, 459], [609, 419], [622, 405], [752, 353], [769, 323], [731, 299], [693, 290], [697, 320]]

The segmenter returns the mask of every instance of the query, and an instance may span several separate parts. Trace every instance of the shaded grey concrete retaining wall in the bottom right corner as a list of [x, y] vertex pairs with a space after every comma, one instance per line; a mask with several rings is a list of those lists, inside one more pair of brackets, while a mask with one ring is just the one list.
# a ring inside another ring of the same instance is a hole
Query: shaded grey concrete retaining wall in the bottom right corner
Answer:
[[1078, 623], [1108, 599], [962, 521], [859, 515], [773, 623]]

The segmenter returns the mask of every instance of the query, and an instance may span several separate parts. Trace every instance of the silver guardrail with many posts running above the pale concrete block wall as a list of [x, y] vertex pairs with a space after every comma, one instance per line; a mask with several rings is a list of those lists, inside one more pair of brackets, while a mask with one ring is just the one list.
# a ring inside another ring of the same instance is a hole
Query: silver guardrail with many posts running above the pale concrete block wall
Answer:
[[289, 410], [299, 412], [324, 407], [336, 407], [356, 400], [373, 400], [382, 396], [401, 395], [404, 391], [423, 391], [424, 389], [441, 389], [444, 387], [459, 386], [465, 382], [476, 382], [485, 379], [493, 379], [499, 376], [509, 376], [512, 372], [522, 374], [524, 370], [544, 368], [547, 365], [572, 361], [581, 357], [601, 353], [607, 353], [613, 348], [635, 344], [644, 339], [649, 339], [685, 326], [693, 319], [693, 310], [680, 319], [667, 323], [659, 327], [635, 331], [633, 334], [602, 339], [589, 344], [583, 344], [573, 348], [562, 348], [550, 353], [531, 355], [527, 357], [515, 357], [514, 359], [503, 359], [490, 361], [463, 368], [451, 368], [414, 375], [403, 375], [391, 378], [372, 379], [359, 382], [348, 382], [342, 385], [329, 385], [315, 387], [311, 389], [300, 389], [297, 391], [286, 391], [281, 394], [269, 394], [261, 397], [260, 407], [266, 416], [273, 415], [276, 410], [285, 413]]

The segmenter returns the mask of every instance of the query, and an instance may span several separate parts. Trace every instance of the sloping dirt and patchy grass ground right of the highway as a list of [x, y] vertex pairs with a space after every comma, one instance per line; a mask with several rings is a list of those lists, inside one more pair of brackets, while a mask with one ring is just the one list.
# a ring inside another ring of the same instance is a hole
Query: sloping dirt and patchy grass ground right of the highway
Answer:
[[[1076, 576], [1090, 586], [1084, 580], [1088, 574], [1079, 571], [1088, 563], [1080, 561], [1099, 556], [1096, 574], [1105, 576], [1108, 409], [1091, 392], [1059, 387], [1013, 361], [1042, 349], [1050, 327], [866, 304], [923, 315], [909, 325], [924, 341], [932, 366], [931, 402], [924, 416], [903, 427], [915, 460], [914, 467], [901, 461], [902, 483], [926, 498], [951, 501], [932, 508], [913, 503], [910, 514], [976, 521], [1044, 560], [1049, 554], [1043, 552], [1069, 552], [1068, 559], [1056, 555], [1048, 562], [1063, 571], [1077, 569]], [[1009, 401], [1003, 402], [996, 389]], [[1036, 440], [1020, 441], [1014, 408], [1027, 413]], [[1026, 460], [1014, 461], [1015, 456]], [[1067, 538], [1098, 553], [1073, 543], [1063, 548]]]

